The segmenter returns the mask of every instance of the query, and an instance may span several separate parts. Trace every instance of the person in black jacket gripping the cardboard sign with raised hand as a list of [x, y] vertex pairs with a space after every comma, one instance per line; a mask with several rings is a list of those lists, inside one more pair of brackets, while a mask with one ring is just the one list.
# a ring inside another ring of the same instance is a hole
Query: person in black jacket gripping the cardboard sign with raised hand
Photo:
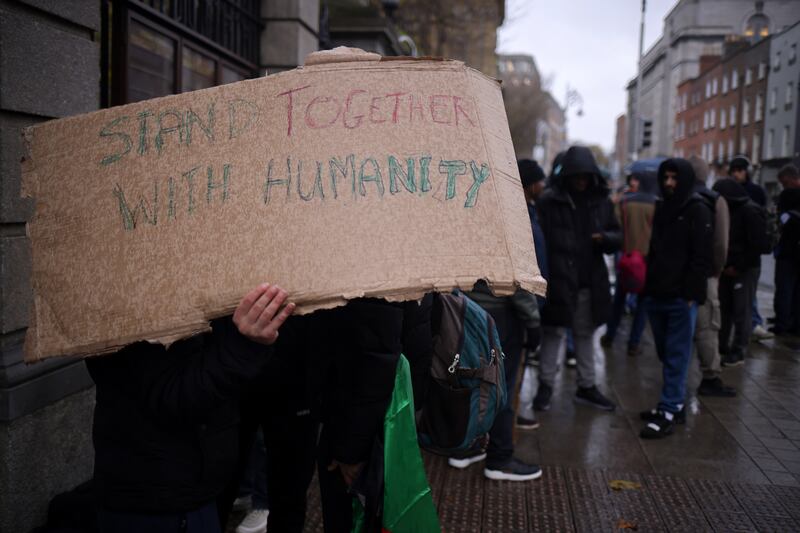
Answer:
[[86, 360], [101, 533], [222, 531], [216, 498], [237, 460], [239, 395], [293, 310], [262, 284], [208, 333]]

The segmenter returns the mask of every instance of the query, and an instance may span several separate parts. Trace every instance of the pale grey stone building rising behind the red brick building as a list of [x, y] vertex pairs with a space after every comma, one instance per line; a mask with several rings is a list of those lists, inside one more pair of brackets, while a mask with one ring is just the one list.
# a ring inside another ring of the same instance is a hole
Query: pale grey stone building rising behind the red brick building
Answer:
[[[766, 37], [800, 19], [800, 0], [679, 0], [664, 18], [661, 37], [642, 59], [640, 116], [653, 123], [652, 144], [640, 157], [671, 155], [677, 88], [700, 74], [700, 57], [723, 55], [731, 35]], [[628, 117], [635, 116], [636, 78], [627, 85]], [[631, 152], [634, 120], [628, 121]]]

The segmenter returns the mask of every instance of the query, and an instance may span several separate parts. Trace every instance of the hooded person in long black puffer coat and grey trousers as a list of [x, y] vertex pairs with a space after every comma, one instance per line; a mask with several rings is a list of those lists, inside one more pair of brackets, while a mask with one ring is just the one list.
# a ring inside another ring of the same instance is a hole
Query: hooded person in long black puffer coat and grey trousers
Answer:
[[620, 229], [609, 191], [592, 152], [573, 146], [538, 204], [547, 243], [550, 279], [542, 310], [539, 389], [534, 409], [547, 410], [558, 371], [561, 345], [572, 328], [577, 358], [575, 400], [605, 410], [616, 408], [597, 388], [593, 336], [608, 320], [611, 291], [603, 254], [620, 247]]

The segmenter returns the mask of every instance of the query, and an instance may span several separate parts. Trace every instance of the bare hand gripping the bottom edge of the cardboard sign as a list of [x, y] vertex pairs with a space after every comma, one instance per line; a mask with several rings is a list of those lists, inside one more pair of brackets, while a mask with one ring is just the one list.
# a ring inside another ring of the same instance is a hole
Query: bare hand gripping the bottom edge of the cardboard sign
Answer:
[[278, 330], [294, 311], [293, 303], [283, 305], [288, 296], [286, 291], [269, 283], [247, 293], [233, 313], [239, 333], [253, 342], [273, 344], [278, 340]]

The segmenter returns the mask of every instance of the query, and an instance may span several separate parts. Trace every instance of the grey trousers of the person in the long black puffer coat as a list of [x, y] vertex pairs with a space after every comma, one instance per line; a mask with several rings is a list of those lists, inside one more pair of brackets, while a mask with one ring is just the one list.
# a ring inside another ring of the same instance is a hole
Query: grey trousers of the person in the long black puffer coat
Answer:
[[[592, 293], [589, 289], [578, 291], [578, 305], [572, 323], [575, 342], [575, 359], [578, 362], [578, 387], [595, 386], [594, 373], [594, 321], [592, 319]], [[561, 346], [567, 338], [567, 328], [542, 327], [542, 347], [539, 351], [539, 381], [553, 386], [560, 366]]]

